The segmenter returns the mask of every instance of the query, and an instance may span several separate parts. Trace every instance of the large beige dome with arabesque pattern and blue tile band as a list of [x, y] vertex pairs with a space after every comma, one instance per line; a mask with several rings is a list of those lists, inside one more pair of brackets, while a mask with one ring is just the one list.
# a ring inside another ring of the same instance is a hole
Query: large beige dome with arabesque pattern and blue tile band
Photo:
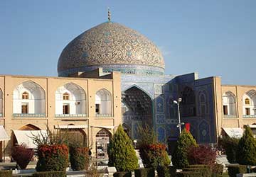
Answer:
[[58, 60], [58, 76], [87, 72], [164, 74], [164, 58], [144, 35], [119, 23], [107, 21], [72, 40]]

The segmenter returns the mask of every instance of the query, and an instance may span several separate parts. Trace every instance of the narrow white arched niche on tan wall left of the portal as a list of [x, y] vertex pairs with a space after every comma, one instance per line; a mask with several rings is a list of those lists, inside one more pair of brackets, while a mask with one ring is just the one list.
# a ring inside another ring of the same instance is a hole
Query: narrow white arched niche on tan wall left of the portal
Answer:
[[112, 116], [110, 91], [106, 89], [97, 91], [95, 95], [95, 115], [97, 117]]

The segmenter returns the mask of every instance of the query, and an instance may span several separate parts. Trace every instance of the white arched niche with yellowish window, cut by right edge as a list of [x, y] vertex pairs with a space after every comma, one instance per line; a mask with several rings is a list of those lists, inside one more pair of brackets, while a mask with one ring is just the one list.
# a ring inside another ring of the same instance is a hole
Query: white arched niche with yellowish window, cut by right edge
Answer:
[[[245, 99], [250, 100], [250, 104], [245, 104]], [[247, 91], [242, 96], [242, 115], [244, 118], [255, 118], [256, 117], [256, 91]]]

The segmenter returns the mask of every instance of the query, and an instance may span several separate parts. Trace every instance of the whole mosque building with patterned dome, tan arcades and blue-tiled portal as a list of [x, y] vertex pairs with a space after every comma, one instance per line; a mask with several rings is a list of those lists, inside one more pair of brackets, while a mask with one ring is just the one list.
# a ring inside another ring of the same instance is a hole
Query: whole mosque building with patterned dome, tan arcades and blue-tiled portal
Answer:
[[[118, 125], [129, 137], [151, 126], [169, 143], [188, 123], [198, 143], [256, 128], [256, 86], [222, 85], [219, 76], [169, 75], [151, 40], [110, 19], [78, 35], [61, 52], [58, 77], [0, 75], [0, 156], [46, 125], [81, 137], [97, 158]], [[181, 118], [179, 121], [178, 118]]]

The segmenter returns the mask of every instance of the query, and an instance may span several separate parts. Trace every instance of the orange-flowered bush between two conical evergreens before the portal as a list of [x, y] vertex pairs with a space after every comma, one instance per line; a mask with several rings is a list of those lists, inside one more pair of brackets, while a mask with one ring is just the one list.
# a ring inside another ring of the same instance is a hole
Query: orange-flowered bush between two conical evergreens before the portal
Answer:
[[145, 144], [139, 147], [139, 154], [146, 168], [156, 169], [157, 166], [168, 166], [171, 162], [165, 144]]

